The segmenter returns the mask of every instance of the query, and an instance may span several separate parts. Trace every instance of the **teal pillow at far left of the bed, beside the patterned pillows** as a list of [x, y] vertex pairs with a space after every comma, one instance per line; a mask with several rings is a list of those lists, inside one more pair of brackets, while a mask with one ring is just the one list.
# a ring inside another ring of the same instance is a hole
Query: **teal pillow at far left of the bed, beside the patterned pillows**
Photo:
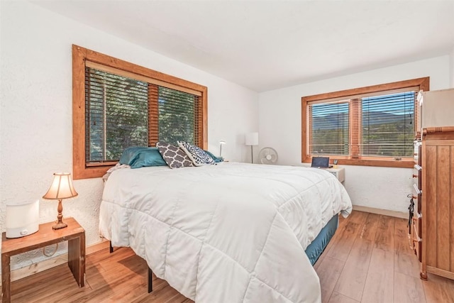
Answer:
[[167, 165], [157, 148], [144, 148], [140, 146], [126, 148], [121, 155], [120, 163], [129, 165], [131, 168]]

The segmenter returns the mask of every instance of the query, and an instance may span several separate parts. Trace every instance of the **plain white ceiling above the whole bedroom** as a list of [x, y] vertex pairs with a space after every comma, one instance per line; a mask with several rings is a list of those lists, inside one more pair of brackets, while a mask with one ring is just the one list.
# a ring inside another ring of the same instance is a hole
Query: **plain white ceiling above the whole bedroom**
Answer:
[[454, 48], [454, 1], [32, 1], [264, 92]]

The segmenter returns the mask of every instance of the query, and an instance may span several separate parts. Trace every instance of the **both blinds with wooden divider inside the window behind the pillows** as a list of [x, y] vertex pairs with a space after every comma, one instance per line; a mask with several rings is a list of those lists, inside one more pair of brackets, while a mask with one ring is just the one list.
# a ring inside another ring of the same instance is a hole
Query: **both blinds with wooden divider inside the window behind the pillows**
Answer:
[[187, 141], [201, 146], [201, 98], [85, 68], [85, 160], [117, 161], [131, 146]]

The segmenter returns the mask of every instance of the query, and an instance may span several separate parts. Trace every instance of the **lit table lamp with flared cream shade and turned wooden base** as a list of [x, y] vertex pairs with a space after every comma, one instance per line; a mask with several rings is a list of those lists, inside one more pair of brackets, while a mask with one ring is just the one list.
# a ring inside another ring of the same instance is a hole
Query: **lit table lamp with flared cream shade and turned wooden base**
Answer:
[[57, 224], [52, 226], [54, 229], [65, 228], [67, 224], [63, 223], [62, 218], [62, 199], [76, 197], [77, 192], [72, 186], [71, 174], [69, 172], [55, 172], [54, 180], [50, 184], [48, 192], [43, 196], [44, 199], [58, 200]]

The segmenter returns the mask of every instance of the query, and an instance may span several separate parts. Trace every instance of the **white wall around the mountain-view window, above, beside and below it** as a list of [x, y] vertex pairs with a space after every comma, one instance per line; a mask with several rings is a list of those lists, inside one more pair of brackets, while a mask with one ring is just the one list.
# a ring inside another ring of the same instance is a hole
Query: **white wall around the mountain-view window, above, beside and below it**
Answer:
[[[427, 76], [431, 77], [431, 90], [448, 88], [449, 55], [263, 92], [259, 97], [260, 148], [275, 148], [281, 165], [301, 165], [301, 97]], [[407, 211], [406, 195], [411, 193], [413, 182], [411, 169], [343, 167], [345, 187], [353, 204]]]

